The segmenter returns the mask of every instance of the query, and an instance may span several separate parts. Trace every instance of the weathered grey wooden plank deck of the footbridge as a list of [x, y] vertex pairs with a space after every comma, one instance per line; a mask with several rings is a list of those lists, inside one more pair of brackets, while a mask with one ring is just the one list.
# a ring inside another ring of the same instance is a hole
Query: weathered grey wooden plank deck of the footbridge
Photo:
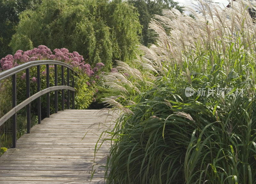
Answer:
[[[0, 183], [90, 183], [96, 142], [106, 126], [111, 126], [100, 124], [106, 117], [96, 117], [96, 111], [59, 111], [36, 124], [30, 134], [17, 140], [17, 148], [1, 156]], [[108, 149], [104, 143], [95, 160]], [[91, 183], [104, 183], [104, 168], [97, 167]]]

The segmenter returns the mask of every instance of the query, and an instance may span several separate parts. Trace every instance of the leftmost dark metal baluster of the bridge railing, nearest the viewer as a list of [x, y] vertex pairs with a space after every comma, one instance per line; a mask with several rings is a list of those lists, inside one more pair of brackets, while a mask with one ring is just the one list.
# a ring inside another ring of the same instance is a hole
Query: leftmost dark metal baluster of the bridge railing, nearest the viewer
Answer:
[[[12, 108], [17, 105], [16, 74], [12, 75]], [[12, 115], [12, 148], [16, 148], [17, 114]]]

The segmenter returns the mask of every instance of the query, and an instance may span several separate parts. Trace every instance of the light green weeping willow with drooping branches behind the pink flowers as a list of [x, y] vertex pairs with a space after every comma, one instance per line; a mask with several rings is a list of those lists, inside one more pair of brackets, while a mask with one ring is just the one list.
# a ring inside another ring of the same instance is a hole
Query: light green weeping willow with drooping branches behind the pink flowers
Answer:
[[128, 61], [139, 44], [140, 23], [134, 8], [122, 1], [43, 0], [35, 11], [20, 15], [13, 51], [33, 45], [50, 49], [66, 47], [83, 55], [86, 63]]

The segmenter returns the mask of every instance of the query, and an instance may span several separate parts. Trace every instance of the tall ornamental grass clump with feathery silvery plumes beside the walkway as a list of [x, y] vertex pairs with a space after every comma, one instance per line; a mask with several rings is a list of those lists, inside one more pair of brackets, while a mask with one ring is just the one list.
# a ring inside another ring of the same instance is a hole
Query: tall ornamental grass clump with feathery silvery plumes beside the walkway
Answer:
[[[199, 2], [192, 19], [163, 10], [157, 43], [105, 76], [123, 113], [111, 135], [107, 183], [256, 183], [256, 25], [250, 1]], [[108, 141], [107, 139], [106, 141]]]

